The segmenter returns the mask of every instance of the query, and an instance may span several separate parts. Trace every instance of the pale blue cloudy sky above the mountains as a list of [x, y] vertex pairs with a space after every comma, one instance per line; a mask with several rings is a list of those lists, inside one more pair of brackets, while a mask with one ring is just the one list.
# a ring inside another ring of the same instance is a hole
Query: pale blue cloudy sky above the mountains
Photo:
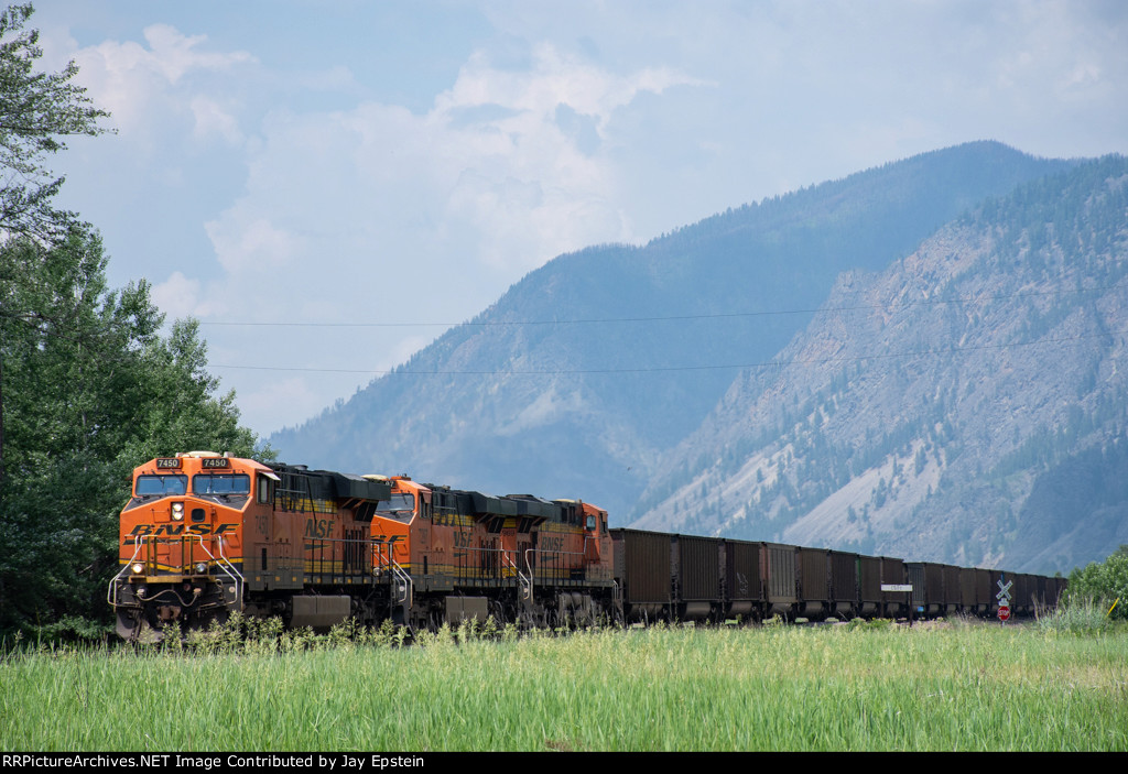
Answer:
[[59, 204], [112, 285], [201, 322], [261, 435], [563, 252], [975, 140], [1128, 153], [1121, 0], [53, 0], [29, 26], [112, 114], [50, 160]]

